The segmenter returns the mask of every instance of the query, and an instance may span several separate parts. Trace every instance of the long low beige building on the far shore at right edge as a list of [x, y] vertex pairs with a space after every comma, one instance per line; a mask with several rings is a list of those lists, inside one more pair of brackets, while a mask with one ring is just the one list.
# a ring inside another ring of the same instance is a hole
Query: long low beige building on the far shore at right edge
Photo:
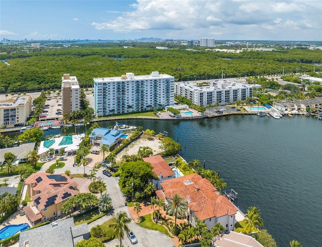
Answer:
[[278, 100], [273, 102], [273, 107], [280, 111], [305, 111], [306, 107], [310, 108], [319, 108], [322, 107], [322, 98], [314, 98], [308, 100], [297, 100], [297, 101], [288, 101], [288, 100]]

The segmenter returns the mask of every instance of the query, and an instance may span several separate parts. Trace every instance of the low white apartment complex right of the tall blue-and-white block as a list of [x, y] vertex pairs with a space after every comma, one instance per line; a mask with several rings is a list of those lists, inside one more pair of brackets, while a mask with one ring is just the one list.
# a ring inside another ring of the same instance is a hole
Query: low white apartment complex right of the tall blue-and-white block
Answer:
[[175, 83], [175, 94], [186, 97], [193, 104], [198, 106], [232, 104], [236, 100], [246, 100], [253, 97], [253, 88], [260, 88], [258, 84], [238, 83], [225, 79], [212, 80], [209, 86], [198, 87], [196, 83], [178, 82]]

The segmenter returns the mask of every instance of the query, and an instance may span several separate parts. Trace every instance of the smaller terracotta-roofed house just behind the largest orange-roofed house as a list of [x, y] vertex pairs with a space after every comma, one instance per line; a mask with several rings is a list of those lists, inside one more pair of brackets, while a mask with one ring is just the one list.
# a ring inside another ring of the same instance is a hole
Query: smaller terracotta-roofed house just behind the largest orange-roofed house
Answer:
[[145, 162], [149, 162], [153, 167], [153, 173], [158, 176], [158, 180], [152, 181], [155, 189], [160, 189], [160, 184], [168, 179], [175, 178], [175, 173], [169, 166], [169, 164], [160, 155], [154, 155], [150, 157], [143, 158]]

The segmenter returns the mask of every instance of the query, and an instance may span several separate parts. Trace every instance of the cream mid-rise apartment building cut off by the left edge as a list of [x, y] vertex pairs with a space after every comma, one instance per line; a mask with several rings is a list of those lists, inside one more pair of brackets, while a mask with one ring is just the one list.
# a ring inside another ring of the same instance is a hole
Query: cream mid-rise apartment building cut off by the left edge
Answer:
[[0, 101], [0, 128], [10, 128], [15, 125], [26, 125], [32, 109], [32, 98], [30, 95], [12, 97]]

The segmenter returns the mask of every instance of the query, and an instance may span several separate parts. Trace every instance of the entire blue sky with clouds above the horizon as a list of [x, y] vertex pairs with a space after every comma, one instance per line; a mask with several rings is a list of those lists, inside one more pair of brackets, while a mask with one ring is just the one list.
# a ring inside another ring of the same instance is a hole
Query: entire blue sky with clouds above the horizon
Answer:
[[322, 41], [315, 0], [0, 0], [0, 39]]

